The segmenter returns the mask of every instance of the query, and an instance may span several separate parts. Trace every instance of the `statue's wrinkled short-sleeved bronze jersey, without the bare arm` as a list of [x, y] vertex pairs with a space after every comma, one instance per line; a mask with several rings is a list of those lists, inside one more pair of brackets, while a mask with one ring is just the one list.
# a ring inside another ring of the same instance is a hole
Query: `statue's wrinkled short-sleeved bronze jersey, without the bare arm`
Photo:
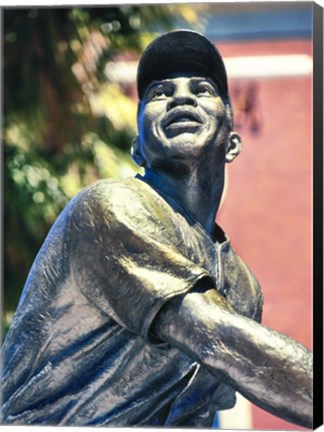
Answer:
[[47, 236], [5, 340], [2, 422], [211, 426], [234, 391], [151, 327], [202, 279], [260, 320], [259, 285], [217, 233], [139, 177], [80, 192]]

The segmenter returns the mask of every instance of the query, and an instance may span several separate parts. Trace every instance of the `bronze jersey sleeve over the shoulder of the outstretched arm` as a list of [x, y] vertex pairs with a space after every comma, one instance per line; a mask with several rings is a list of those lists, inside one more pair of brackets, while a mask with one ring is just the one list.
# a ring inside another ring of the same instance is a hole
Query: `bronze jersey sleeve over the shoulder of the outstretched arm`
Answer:
[[213, 277], [186, 256], [172, 209], [101, 182], [77, 200], [69, 227], [73, 277], [110, 318], [144, 338], [162, 305]]

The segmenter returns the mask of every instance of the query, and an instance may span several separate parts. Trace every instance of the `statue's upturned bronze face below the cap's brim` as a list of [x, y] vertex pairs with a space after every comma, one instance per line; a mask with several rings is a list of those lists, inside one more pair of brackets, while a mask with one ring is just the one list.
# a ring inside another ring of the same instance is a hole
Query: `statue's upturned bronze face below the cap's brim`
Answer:
[[181, 74], [155, 81], [139, 108], [141, 153], [151, 166], [165, 165], [168, 158], [190, 162], [202, 151], [225, 148], [227, 122], [224, 102], [209, 78]]

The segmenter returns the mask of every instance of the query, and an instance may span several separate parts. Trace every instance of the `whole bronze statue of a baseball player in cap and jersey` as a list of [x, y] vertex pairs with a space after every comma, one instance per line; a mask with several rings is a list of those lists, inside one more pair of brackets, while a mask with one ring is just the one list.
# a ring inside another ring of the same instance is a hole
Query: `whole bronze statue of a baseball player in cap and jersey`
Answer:
[[260, 324], [215, 224], [240, 152], [222, 58], [187, 30], [138, 68], [144, 176], [81, 191], [52, 227], [3, 346], [6, 424], [203, 426], [235, 391], [312, 426], [312, 354]]

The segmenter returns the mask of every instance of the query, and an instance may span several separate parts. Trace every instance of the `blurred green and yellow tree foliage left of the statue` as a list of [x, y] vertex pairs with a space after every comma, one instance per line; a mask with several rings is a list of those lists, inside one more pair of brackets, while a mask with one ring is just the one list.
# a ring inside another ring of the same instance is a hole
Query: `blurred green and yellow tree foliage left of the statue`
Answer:
[[[4, 326], [31, 264], [68, 200], [101, 177], [133, 175], [136, 100], [107, 79], [188, 5], [3, 10]], [[113, 63], [111, 63], [113, 64]], [[133, 92], [134, 93], [134, 92]]]

